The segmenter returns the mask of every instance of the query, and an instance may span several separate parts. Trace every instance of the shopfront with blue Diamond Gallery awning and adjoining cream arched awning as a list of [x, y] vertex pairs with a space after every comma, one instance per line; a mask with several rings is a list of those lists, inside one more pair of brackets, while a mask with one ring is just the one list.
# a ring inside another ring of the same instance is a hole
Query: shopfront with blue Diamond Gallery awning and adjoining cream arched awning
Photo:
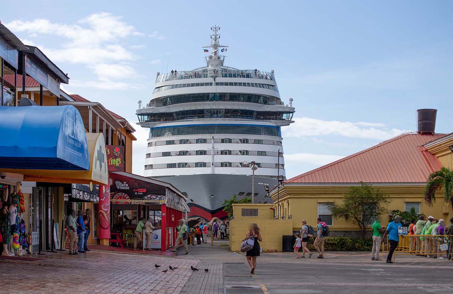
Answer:
[[72, 184], [107, 183], [104, 137], [85, 133], [79, 112], [70, 105], [0, 107], [0, 119], [5, 138], [0, 173], [23, 176], [28, 243], [34, 250], [58, 249]]

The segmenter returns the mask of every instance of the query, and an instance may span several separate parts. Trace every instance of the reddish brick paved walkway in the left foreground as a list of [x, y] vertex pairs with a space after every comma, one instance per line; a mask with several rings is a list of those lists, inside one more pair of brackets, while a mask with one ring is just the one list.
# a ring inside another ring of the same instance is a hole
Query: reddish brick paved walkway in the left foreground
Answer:
[[[162, 267], [156, 269], [155, 263]], [[198, 263], [105, 251], [78, 256], [47, 253], [39, 261], [0, 260], [0, 279], [14, 285], [11, 289], [3, 286], [1, 293], [181, 293], [192, 275], [190, 266], [198, 266]], [[162, 272], [169, 266], [178, 269]]]

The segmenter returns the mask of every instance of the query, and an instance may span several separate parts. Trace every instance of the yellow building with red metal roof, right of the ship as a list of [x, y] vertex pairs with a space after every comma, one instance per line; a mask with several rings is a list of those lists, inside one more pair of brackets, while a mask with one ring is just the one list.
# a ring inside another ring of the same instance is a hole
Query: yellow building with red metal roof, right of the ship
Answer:
[[[434, 115], [435, 118], [435, 115]], [[321, 218], [328, 223], [330, 237], [357, 237], [358, 228], [344, 218], [332, 219], [326, 204], [342, 201], [342, 195], [360, 182], [373, 185], [390, 196], [389, 211], [399, 209], [435, 218], [453, 216], [452, 204], [444, 203], [443, 191], [437, 201], [428, 206], [424, 201], [424, 186], [428, 176], [442, 166], [453, 167], [453, 133], [437, 134], [419, 130], [404, 133], [390, 140], [357, 152], [312, 171], [285, 180], [280, 189], [270, 191], [276, 215], [290, 218], [293, 230], [299, 231], [302, 219], [316, 225]], [[381, 216], [388, 223], [389, 216]]]

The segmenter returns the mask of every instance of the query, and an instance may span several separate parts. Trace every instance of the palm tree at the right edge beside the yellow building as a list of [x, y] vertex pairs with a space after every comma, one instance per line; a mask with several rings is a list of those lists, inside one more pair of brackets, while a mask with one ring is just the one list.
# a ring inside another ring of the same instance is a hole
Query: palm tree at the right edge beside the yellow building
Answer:
[[432, 205], [436, 201], [435, 192], [442, 188], [444, 190], [443, 196], [445, 202], [450, 201], [453, 209], [453, 170], [444, 166], [439, 171], [434, 171], [428, 177], [424, 189], [426, 203]]

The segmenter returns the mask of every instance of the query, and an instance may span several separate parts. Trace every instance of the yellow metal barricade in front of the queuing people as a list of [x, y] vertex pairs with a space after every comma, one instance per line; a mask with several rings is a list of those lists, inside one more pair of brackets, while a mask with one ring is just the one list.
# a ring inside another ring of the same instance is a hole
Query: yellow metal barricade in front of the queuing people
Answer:
[[[416, 255], [425, 257], [446, 256], [453, 260], [453, 235], [400, 235], [398, 246], [393, 252], [393, 261], [396, 255]], [[382, 243], [382, 258], [390, 251], [389, 236], [386, 243]]]

